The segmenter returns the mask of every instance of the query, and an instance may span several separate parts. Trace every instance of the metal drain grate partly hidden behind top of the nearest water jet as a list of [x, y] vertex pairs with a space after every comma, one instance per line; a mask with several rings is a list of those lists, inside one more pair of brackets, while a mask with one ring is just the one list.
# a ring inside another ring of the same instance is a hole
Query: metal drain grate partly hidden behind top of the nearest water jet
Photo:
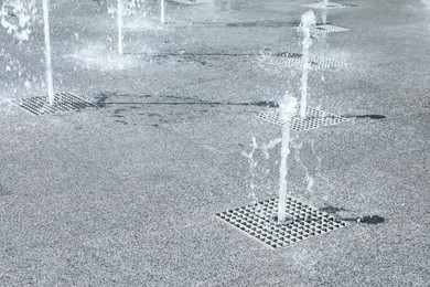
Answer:
[[[298, 107], [298, 111], [300, 107]], [[270, 123], [282, 125], [279, 110], [265, 110], [257, 115], [258, 117], [266, 119]], [[307, 118], [303, 120], [300, 118], [299, 114], [291, 120], [291, 129], [297, 131], [305, 131], [310, 129], [315, 129], [325, 126], [337, 125], [340, 123], [346, 121], [348, 118], [336, 116], [316, 108], [307, 107]]]

